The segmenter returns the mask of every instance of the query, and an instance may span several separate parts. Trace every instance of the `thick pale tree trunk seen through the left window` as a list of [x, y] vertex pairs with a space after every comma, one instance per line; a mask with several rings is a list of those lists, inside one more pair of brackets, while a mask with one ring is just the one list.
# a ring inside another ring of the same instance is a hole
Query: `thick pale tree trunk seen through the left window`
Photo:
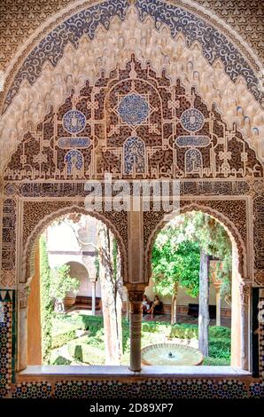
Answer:
[[119, 251], [114, 265], [113, 241], [113, 233], [105, 224], [98, 222], [97, 244], [105, 330], [105, 365], [120, 365], [122, 355], [122, 279]]

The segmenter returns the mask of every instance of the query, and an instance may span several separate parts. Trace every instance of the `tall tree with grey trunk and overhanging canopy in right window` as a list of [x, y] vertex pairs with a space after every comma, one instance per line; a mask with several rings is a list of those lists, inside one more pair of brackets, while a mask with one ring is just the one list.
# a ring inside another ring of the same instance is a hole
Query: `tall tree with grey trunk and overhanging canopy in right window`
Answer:
[[[207, 216], [204, 213], [193, 211], [181, 216], [175, 217], [175, 219], [167, 224], [165, 230], [159, 233], [157, 238], [158, 244], [161, 242], [161, 246], [168, 250], [167, 257], [165, 254], [166, 268], [161, 271], [161, 278], [163, 279], [163, 286], [170, 287], [171, 285], [177, 286], [175, 283], [179, 283], [182, 280], [182, 271], [179, 265], [175, 268], [175, 254], [182, 242], [190, 241], [196, 243], [200, 248], [199, 254], [199, 348], [203, 351], [205, 356], [208, 354], [208, 325], [209, 325], [209, 256], [219, 259], [216, 275], [217, 279], [222, 282], [223, 291], [222, 294], [225, 298], [230, 298], [230, 274], [231, 274], [231, 242], [229, 235], [221, 224], [216, 221], [212, 216]], [[155, 249], [155, 246], [154, 246]], [[165, 250], [166, 252], [166, 250]], [[153, 251], [155, 255], [155, 252]], [[186, 256], [186, 255], [185, 255]], [[155, 262], [155, 261], [154, 261]], [[185, 261], [187, 262], [187, 260]], [[154, 278], [157, 280], [157, 271], [162, 269], [162, 262], [159, 260], [157, 269], [154, 268]], [[193, 271], [197, 271], [193, 264]], [[190, 262], [191, 266], [191, 262]], [[166, 273], [167, 269], [167, 273]], [[180, 277], [177, 276], [177, 270], [180, 273]], [[192, 266], [191, 268], [192, 269]], [[159, 276], [159, 273], [158, 273]], [[165, 280], [164, 280], [165, 279]], [[166, 282], [168, 279], [168, 282]], [[183, 283], [183, 281], [182, 281]], [[185, 284], [184, 284], [185, 286]], [[188, 279], [187, 285], [188, 287]], [[170, 287], [170, 291], [173, 288]], [[174, 290], [175, 294], [175, 290]]]

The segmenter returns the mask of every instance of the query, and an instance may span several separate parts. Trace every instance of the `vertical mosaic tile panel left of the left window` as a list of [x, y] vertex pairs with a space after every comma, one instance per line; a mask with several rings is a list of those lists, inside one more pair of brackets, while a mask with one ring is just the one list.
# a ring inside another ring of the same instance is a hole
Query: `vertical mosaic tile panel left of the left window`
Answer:
[[14, 382], [15, 292], [0, 290], [0, 397], [5, 397]]

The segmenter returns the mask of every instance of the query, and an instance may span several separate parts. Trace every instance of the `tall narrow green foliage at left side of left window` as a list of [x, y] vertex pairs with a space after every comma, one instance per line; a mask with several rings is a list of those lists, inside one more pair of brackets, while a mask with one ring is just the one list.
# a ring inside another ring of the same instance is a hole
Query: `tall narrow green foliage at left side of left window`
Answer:
[[53, 303], [50, 298], [50, 264], [47, 245], [44, 237], [40, 239], [40, 284], [41, 284], [41, 321], [42, 321], [42, 350], [43, 364], [50, 363], [52, 344], [52, 311]]

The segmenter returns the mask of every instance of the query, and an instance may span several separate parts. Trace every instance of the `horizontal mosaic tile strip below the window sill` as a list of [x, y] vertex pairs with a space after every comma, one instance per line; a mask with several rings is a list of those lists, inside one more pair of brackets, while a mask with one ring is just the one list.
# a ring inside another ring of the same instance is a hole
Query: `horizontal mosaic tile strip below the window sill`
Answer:
[[[53, 384], [52, 384], [53, 385]], [[245, 398], [260, 396], [260, 384], [248, 389], [235, 379], [156, 379], [120, 382], [120, 380], [23, 382], [16, 385], [17, 398]], [[51, 390], [54, 391], [51, 393]]]

